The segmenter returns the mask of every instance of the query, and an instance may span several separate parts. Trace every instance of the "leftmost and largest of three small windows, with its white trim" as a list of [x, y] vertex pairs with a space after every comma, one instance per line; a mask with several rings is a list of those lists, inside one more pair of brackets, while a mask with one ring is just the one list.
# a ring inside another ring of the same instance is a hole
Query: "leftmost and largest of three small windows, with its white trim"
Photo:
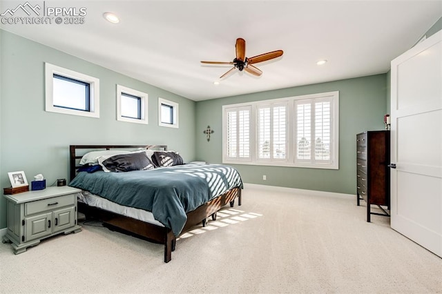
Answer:
[[45, 63], [46, 111], [99, 117], [99, 79]]

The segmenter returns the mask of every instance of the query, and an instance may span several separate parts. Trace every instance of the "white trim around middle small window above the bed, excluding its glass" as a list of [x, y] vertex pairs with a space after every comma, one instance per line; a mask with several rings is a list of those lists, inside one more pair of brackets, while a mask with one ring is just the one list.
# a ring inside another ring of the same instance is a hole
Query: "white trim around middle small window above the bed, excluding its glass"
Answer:
[[[140, 98], [140, 119], [122, 116], [122, 93]], [[148, 94], [117, 84], [117, 121], [148, 124]]]

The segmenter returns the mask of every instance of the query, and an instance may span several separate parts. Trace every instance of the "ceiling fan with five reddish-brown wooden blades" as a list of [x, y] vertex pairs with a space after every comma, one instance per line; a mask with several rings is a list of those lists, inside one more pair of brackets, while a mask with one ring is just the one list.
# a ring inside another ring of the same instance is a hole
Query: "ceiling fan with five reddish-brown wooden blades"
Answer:
[[226, 72], [224, 75], [220, 77], [222, 79], [223, 77], [226, 77], [229, 75], [229, 73], [233, 72], [236, 68], [238, 70], [242, 71], [245, 70], [249, 72], [252, 75], [260, 76], [262, 75], [262, 71], [257, 68], [256, 66], [252, 66], [254, 63], [259, 63], [262, 61], [267, 61], [276, 57], [280, 57], [282, 53], [284, 53], [282, 50], [276, 50], [272, 52], [267, 52], [261, 55], [256, 55], [253, 57], [245, 57], [246, 52], [246, 41], [242, 38], [236, 39], [236, 58], [233, 59], [231, 62], [223, 62], [223, 61], [201, 61], [201, 63], [209, 63], [209, 64], [232, 64], [233, 68], [231, 68], [228, 72]]

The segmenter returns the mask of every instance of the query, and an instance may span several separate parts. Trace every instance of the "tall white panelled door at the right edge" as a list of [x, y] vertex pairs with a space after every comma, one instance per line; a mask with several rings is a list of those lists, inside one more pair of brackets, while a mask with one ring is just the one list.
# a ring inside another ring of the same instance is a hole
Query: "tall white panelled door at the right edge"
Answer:
[[442, 31], [392, 61], [391, 226], [442, 257]]

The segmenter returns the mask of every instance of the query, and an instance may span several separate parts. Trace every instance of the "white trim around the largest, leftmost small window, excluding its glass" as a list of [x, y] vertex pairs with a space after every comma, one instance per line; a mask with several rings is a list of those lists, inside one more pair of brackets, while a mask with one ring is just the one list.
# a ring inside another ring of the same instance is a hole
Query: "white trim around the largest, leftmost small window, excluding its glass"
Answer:
[[[67, 79], [75, 79], [89, 84], [89, 110], [54, 106], [54, 75], [66, 77]], [[99, 79], [45, 62], [45, 111], [99, 118]]]

